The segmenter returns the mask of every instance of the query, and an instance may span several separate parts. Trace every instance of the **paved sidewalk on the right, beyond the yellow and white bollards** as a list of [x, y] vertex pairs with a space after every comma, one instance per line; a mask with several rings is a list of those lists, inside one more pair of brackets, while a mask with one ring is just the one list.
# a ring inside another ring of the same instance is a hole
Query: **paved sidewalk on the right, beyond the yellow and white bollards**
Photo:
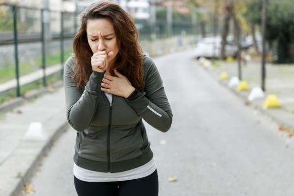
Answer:
[[[238, 76], [238, 64], [233, 62], [211, 61], [210, 66], [205, 67], [207, 71], [227, 88], [230, 79]], [[261, 62], [252, 60], [246, 65], [242, 63], [242, 80], [248, 84], [248, 91], [237, 92], [231, 88], [237, 96], [243, 99], [244, 104], [251, 105], [256, 111], [268, 115], [269, 119], [275, 120], [281, 125], [280, 131], [288, 131], [294, 137], [294, 65], [273, 65], [266, 63], [265, 97], [248, 101], [250, 91], [254, 87], [261, 87]], [[222, 72], [228, 74], [227, 80], [221, 80]], [[281, 108], [263, 108], [263, 103], [268, 95], [276, 95]]]

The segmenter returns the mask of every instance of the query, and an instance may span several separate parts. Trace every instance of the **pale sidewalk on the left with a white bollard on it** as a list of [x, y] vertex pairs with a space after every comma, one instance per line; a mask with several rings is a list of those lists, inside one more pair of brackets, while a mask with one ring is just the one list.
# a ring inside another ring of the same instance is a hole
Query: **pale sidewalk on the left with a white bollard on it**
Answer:
[[[62, 87], [0, 113], [0, 196], [20, 195], [54, 140], [67, 129], [65, 113]], [[37, 138], [26, 136], [32, 122], [43, 127], [35, 131], [43, 133]]]

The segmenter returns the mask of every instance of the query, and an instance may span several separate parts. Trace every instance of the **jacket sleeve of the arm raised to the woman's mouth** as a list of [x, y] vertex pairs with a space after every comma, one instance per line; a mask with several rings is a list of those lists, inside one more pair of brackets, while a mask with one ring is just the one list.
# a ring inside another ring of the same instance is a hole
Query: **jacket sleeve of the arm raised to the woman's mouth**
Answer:
[[77, 88], [72, 79], [74, 57], [71, 56], [64, 65], [64, 92], [67, 121], [76, 131], [84, 131], [90, 125], [95, 114], [97, 97], [101, 96], [101, 81], [104, 73], [95, 72], [90, 75], [84, 92]]

